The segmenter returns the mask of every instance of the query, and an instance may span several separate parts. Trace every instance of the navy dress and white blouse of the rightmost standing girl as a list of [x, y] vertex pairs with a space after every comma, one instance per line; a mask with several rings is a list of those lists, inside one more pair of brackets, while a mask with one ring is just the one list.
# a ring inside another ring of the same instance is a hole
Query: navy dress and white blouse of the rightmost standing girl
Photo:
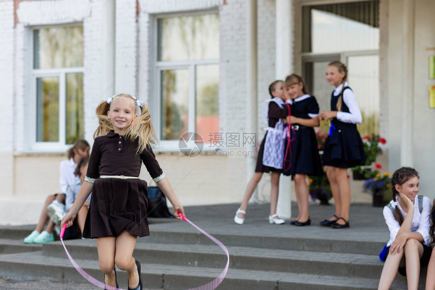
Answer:
[[[342, 86], [343, 84], [332, 92], [331, 111], [337, 110], [336, 104]], [[323, 165], [337, 168], [352, 168], [364, 164], [366, 160], [364, 145], [357, 130], [357, 125], [354, 123], [355, 115], [361, 117], [361, 112], [359, 111], [354, 93], [351, 88], [347, 87], [347, 82], [344, 84], [342, 95], [341, 111], [337, 112], [337, 117], [331, 120], [335, 130], [331, 130], [331, 135], [325, 140], [322, 161]], [[349, 104], [346, 104], [346, 99], [350, 102]], [[352, 106], [353, 113], [350, 113], [350, 106]]]

